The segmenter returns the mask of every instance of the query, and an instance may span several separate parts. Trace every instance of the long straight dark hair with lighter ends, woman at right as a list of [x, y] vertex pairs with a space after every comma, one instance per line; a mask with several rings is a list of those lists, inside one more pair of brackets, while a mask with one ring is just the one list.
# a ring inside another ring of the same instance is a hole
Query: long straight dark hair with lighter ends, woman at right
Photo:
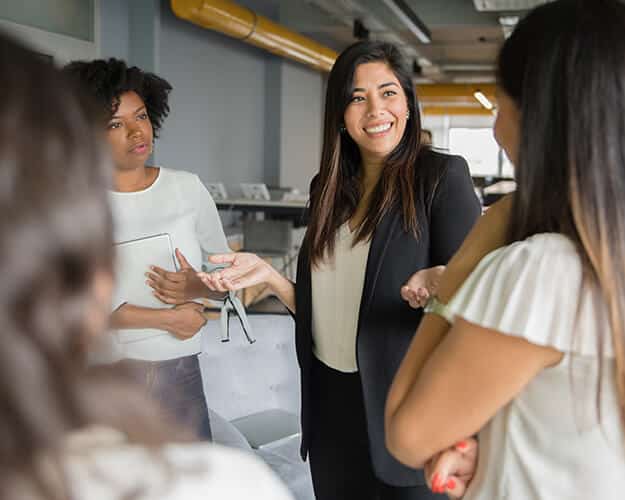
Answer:
[[523, 19], [499, 56], [521, 112], [509, 240], [558, 232], [608, 305], [625, 417], [625, 5], [558, 0]]

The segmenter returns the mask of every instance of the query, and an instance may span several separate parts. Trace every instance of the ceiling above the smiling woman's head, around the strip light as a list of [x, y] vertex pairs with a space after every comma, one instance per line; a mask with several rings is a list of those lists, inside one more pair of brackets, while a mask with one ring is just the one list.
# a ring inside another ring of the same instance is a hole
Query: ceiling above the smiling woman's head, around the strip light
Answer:
[[430, 43], [419, 41], [389, 8], [393, 0], [265, 1], [279, 11], [277, 21], [337, 51], [356, 41], [358, 19], [370, 39], [394, 42], [417, 62], [415, 81], [468, 83], [493, 81], [504, 40], [500, 18], [522, 16], [548, 0], [403, 0], [431, 32]]

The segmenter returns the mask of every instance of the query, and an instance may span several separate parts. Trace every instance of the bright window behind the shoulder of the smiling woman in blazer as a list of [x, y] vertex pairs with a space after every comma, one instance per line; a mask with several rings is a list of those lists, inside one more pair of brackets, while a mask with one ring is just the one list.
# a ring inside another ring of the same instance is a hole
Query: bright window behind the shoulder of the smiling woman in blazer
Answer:
[[473, 176], [512, 177], [512, 164], [500, 149], [490, 127], [449, 129], [449, 151], [467, 160]]

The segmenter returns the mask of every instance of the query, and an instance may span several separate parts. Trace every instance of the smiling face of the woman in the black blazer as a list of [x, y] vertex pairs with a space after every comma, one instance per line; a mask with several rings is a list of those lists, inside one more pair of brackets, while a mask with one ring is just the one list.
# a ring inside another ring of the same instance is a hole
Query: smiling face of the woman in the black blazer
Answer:
[[343, 119], [363, 161], [384, 160], [406, 130], [408, 102], [399, 80], [384, 62], [361, 64]]

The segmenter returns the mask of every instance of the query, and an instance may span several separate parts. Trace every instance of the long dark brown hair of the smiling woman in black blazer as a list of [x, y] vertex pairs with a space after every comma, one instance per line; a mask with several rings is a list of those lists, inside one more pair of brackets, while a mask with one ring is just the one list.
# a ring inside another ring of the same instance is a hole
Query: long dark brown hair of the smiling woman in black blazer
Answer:
[[415, 172], [421, 120], [415, 87], [399, 49], [384, 42], [351, 45], [339, 55], [328, 79], [323, 151], [319, 175], [311, 187], [311, 217], [306, 238], [313, 263], [323, 259], [326, 251], [332, 254], [337, 229], [354, 214], [362, 196], [360, 151], [348, 133], [341, 133], [341, 124], [352, 95], [356, 68], [370, 62], [384, 62], [393, 71], [406, 94], [410, 119], [400, 143], [384, 162], [382, 176], [369, 210], [357, 229], [355, 242], [369, 238], [395, 202], [401, 204], [404, 228], [416, 237], [419, 226], [415, 203], [426, 196], [424, 193], [432, 191], [423, 186], [425, 177]]

